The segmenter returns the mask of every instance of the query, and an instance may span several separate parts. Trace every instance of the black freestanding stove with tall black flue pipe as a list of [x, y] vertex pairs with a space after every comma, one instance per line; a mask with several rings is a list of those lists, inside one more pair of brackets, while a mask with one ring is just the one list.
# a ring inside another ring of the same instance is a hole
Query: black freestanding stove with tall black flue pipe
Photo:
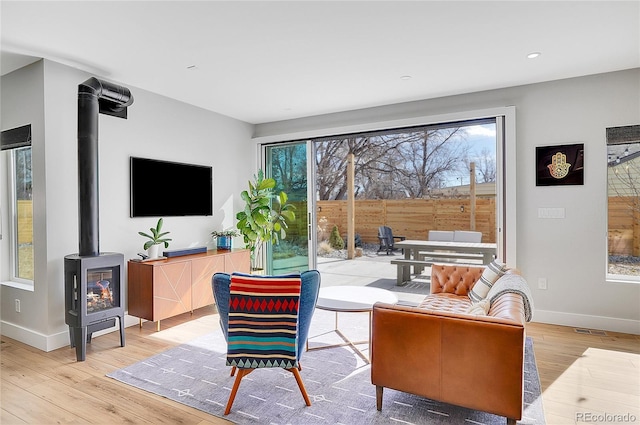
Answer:
[[127, 118], [129, 89], [97, 78], [78, 86], [78, 207], [80, 250], [64, 257], [65, 323], [84, 361], [93, 332], [120, 325], [124, 347], [124, 255], [100, 252], [98, 114]]

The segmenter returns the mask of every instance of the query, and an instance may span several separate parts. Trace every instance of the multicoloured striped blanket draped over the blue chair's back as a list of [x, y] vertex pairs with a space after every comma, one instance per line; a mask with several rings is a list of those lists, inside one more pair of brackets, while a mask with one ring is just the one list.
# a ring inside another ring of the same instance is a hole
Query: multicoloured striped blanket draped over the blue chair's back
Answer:
[[231, 275], [227, 366], [298, 367], [300, 274]]

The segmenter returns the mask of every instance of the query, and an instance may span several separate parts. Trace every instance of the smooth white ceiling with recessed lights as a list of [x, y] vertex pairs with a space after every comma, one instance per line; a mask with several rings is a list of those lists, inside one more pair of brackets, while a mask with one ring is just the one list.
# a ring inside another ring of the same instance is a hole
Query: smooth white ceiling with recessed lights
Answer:
[[2, 75], [46, 58], [253, 124], [640, 67], [640, 1], [3, 0], [0, 17]]

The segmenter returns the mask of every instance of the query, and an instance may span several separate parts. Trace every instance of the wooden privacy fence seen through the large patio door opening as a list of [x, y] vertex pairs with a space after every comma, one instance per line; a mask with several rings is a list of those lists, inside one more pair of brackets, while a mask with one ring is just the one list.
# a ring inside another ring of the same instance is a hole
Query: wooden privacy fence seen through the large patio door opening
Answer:
[[[347, 234], [347, 202], [317, 201], [318, 241], [328, 239], [334, 225]], [[378, 227], [389, 226], [394, 236], [427, 239], [429, 230], [470, 230], [469, 199], [356, 200], [355, 232], [365, 243], [378, 243]], [[495, 198], [476, 199], [476, 231], [482, 242], [496, 241]]]

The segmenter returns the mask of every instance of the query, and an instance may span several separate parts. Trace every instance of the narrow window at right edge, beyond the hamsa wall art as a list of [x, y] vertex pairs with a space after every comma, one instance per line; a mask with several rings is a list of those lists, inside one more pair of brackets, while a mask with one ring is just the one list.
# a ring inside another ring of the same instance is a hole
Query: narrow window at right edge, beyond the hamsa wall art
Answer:
[[640, 282], [640, 125], [607, 129], [607, 278]]

